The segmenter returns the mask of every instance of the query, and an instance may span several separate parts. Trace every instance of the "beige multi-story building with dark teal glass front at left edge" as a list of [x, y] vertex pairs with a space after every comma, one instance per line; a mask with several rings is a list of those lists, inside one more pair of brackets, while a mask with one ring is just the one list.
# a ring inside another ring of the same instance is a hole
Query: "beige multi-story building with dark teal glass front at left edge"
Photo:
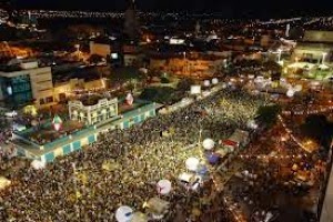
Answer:
[[53, 103], [50, 67], [39, 68], [37, 61], [24, 61], [0, 69], [0, 101], [11, 107], [29, 102], [40, 108]]

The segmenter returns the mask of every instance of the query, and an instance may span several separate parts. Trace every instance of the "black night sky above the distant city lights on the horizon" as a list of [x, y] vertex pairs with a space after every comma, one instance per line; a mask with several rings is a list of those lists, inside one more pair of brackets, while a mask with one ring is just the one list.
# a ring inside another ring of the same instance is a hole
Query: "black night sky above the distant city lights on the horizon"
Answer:
[[[18, 8], [123, 11], [128, 0], [13, 0]], [[333, 0], [135, 0], [143, 11], [222, 12], [225, 17], [333, 14]]]

